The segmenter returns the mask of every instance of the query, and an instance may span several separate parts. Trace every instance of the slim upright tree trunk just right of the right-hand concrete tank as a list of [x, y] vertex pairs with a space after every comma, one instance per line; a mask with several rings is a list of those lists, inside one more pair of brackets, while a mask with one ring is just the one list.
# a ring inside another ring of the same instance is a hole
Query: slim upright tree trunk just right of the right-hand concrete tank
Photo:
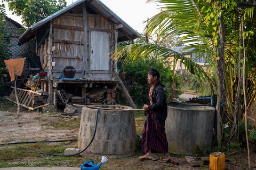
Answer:
[[219, 60], [216, 59], [217, 68], [218, 68], [218, 95], [217, 95], [217, 105], [216, 105], [216, 113], [217, 113], [217, 140], [218, 145], [221, 145], [221, 127], [222, 122], [221, 118], [223, 115], [223, 105], [226, 101], [225, 95], [225, 59], [224, 59], [224, 50], [225, 50], [225, 28], [223, 22], [223, 15], [220, 17], [220, 25], [219, 25], [219, 33], [220, 33], [220, 40], [218, 46], [220, 48], [215, 48], [219, 52]]

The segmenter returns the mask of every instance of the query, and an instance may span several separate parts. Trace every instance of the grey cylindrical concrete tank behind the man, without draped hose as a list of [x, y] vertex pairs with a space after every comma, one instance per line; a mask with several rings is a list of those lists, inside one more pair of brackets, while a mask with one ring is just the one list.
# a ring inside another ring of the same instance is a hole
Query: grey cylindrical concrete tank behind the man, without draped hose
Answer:
[[211, 149], [215, 108], [200, 104], [168, 103], [165, 133], [169, 152], [196, 155]]

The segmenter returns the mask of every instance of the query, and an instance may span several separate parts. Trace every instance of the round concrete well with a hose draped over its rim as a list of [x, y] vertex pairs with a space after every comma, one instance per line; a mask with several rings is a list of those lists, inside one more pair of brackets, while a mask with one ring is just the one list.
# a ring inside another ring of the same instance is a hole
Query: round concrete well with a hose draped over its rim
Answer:
[[[133, 111], [115, 110], [132, 109], [127, 106], [104, 106], [113, 110], [99, 111], [97, 132], [87, 153], [102, 155], [131, 155], [137, 148], [137, 134]], [[96, 109], [83, 107], [78, 148], [83, 150], [91, 141], [96, 119]]]

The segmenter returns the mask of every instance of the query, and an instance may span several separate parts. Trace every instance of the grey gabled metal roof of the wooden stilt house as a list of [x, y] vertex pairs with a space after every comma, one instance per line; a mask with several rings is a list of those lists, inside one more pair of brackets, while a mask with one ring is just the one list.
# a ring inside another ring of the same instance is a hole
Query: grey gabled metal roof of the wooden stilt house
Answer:
[[98, 13], [103, 17], [107, 18], [109, 21], [113, 22], [116, 25], [122, 24], [123, 27], [118, 29], [118, 42], [128, 41], [131, 39], [141, 37], [132, 27], [130, 27], [125, 21], [117, 16], [113, 11], [111, 11], [105, 4], [100, 0], [78, 0], [69, 6], [59, 10], [49, 17], [35, 23], [33, 26], [29, 27], [25, 33], [19, 38], [20, 45], [26, 43], [33, 37], [35, 37], [36, 30], [47, 25], [51, 20], [58, 18], [60, 15], [67, 13], [71, 9], [74, 9], [79, 4], [86, 2], [86, 6], [89, 6], [94, 13]]

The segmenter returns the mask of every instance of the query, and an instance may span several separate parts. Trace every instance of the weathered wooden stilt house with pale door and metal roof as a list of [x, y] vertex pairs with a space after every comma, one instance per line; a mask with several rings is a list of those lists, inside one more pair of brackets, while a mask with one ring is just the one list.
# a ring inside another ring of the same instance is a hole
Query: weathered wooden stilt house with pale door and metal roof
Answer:
[[[54, 90], [61, 88], [84, 101], [94, 87], [110, 89], [111, 95], [105, 94], [104, 99], [113, 103], [113, 93], [120, 82], [114, 77], [117, 63], [110, 53], [117, 49], [118, 42], [140, 35], [101, 1], [78, 0], [29, 27], [19, 41], [23, 44], [34, 37], [47, 72], [46, 78], [41, 79], [41, 88], [52, 105], [56, 104]], [[76, 69], [75, 79], [59, 79], [66, 66]]]

